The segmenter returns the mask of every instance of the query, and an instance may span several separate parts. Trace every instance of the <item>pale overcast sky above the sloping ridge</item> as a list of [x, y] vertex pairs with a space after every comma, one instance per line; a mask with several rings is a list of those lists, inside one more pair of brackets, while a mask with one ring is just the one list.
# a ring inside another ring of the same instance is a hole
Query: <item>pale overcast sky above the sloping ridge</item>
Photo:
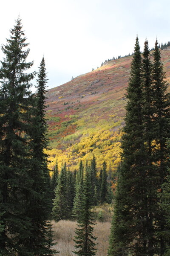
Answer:
[[145, 38], [150, 48], [156, 37], [159, 43], [170, 41], [169, 10], [170, 0], [6, 0], [1, 3], [0, 45], [20, 15], [28, 61], [34, 61], [31, 71], [38, 71], [44, 55], [52, 88], [108, 58], [131, 54], [136, 34], [141, 50]]

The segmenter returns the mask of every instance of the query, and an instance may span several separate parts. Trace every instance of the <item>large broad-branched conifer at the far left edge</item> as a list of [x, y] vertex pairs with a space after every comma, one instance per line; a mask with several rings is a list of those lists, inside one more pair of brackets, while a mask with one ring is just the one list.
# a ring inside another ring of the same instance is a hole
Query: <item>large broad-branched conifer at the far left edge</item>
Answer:
[[0, 252], [14, 256], [27, 256], [31, 251], [23, 242], [31, 230], [27, 200], [34, 194], [29, 151], [29, 88], [34, 73], [26, 72], [33, 65], [26, 62], [27, 46], [18, 18], [7, 44], [2, 46], [5, 57], [0, 68]]

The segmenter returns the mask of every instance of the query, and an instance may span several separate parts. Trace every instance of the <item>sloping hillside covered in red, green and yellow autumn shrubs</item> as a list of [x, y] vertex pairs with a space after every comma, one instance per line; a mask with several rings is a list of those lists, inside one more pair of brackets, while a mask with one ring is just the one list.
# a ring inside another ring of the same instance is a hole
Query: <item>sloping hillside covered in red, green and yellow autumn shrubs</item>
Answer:
[[[95, 155], [97, 168], [106, 160], [109, 168], [116, 170], [131, 60], [128, 56], [108, 61], [47, 91], [50, 169], [58, 159], [59, 165], [63, 161], [74, 170], [80, 159], [90, 160]], [[169, 83], [170, 47], [161, 50], [161, 60]]]

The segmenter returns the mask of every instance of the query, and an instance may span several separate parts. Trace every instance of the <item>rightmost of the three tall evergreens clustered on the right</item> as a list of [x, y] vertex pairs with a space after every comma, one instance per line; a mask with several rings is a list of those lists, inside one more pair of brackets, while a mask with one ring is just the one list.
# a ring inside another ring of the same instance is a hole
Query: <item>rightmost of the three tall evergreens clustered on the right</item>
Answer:
[[[157, 165], [158, 184], [157, 191], [162, 192], [161, 185], [166, 180], [170, 166], [167, 149], [167, 139], [170, 137], [169, 118], [170, 118], [170, 94], [166, 93], [167, 83], [165, 81], [165, 73], [163, 71], [163, 64], [161, 63], [161, 55], [156, 40], [155, 50], [153, 52], [153, 88], [154, 88], [154, 131], [155, 131], [155, 158]], [[156, 212], [157, 231], [160, 233], [164, 231], [165, 218], [162, 209]], [[160, 237], [158, 250], [156, 253], [161, 256], [166, 250], [166, 241], [164, 237]]]

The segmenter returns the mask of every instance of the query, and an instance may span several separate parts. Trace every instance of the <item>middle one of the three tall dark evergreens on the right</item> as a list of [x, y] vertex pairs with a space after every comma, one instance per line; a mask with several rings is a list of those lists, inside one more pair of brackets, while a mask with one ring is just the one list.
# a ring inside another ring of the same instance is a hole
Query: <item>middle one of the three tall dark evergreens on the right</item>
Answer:
[[144, 150], [145, 150], [145, 159], [144, 159], [144, 183], [145, 183], [145, 199], [143, 204], [143, 219], [146, 221], [143, 222], [143, 230], [145, 232], [145, 243], [144, 247], [147, 247], [148, 255], [153, 256], [154, 253], [154, 232], [155, 225], [153, 223], [153, 212], [156, 211], [156, 183], [157, 175], [156, 168], [154, 163], [154, 145], [153, 140], [155, 139], [154, 134], [154, 108], [153, 108], [153, 81], [152, 81], [152, 69], [153, 65], [150, 61], [150, 50], [148, 46], [148, 41], [144, 42], [144, 52], [142, 60], [142, 83], [143, 83], [143, 105], [142, 105], [142, 116], [144, 123]]

